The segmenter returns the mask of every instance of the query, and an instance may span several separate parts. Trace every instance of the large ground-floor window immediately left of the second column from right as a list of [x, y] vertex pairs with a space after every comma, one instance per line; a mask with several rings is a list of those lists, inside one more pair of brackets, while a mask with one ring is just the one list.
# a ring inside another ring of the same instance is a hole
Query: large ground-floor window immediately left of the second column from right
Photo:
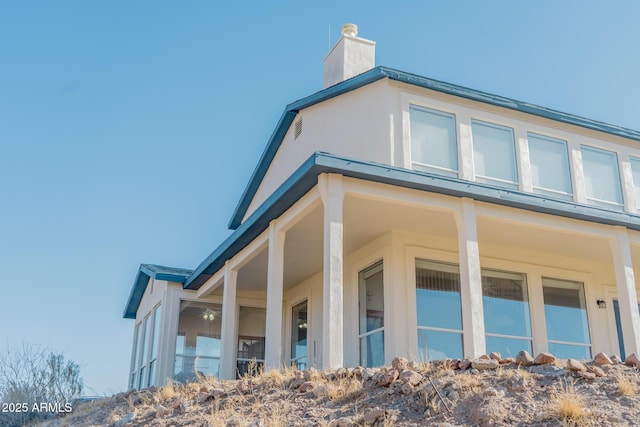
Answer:
[[426, 360], [462, 358], [460, 269], [416, 260], [418, 356]]

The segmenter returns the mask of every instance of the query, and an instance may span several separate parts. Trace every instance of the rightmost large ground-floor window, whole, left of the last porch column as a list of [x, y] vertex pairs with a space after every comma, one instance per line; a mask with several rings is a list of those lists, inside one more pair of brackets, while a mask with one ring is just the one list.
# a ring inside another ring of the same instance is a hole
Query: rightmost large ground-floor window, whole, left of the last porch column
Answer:
[[561, 359], [590, 359], [584, 285], [543, 277], [542, 292], [549, 351]]

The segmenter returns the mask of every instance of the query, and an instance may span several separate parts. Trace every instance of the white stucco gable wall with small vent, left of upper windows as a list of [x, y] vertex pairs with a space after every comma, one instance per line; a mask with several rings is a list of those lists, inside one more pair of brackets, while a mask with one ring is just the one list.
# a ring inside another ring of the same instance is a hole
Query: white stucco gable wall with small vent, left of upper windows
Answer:
[[[386, 79], [332, 98], [298, 113], [243, 221], [316, 151], [382, 164], [394, 164], [393, 120], [397, 91]], [[294, 138], [295, 123], [302, 133]]]

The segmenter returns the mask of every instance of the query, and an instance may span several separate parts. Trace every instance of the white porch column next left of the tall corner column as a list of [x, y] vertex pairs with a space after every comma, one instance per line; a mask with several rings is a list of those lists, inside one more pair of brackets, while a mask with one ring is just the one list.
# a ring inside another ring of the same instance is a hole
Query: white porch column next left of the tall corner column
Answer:
[[267, 325], [264, 364], [267, 369], [282, 366], [282, 282], [284, 278], [284, 236], [275, 221], [269, 224], [267, 271]]

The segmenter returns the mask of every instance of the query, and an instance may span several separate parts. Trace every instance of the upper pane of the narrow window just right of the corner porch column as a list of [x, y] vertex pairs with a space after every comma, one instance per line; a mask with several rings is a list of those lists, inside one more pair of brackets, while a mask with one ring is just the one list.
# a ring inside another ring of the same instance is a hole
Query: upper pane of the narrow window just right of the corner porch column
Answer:
[[384, 327], [384, 284], [382, 262], [358, 274], [360, 334]]

